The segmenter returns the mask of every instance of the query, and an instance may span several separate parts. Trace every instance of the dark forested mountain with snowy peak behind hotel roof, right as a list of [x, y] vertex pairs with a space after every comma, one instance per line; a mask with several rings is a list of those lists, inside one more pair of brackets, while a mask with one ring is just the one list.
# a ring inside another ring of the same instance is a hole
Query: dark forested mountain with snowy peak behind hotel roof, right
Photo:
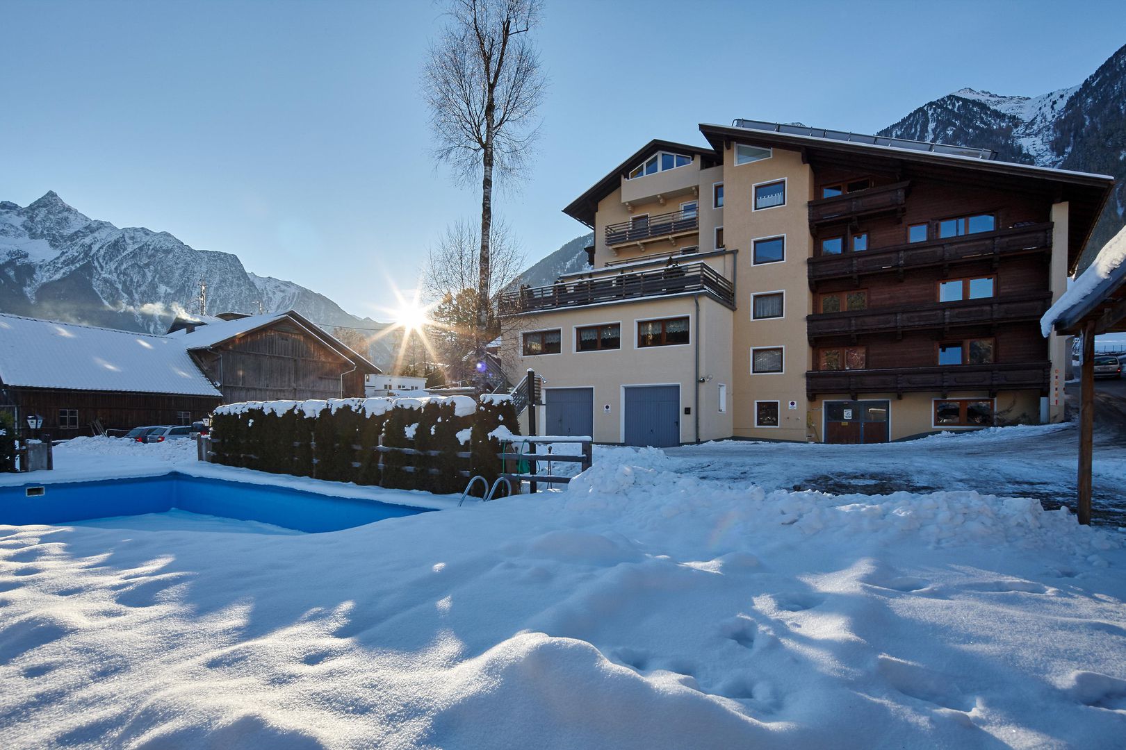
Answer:
[[994, 148], [1006, 161], [1111, 174], [1114, 195], [1080, 266], [1126, 223], [1126, 46], [1081, 84], [1038, 97], [959, 89], [878, 135]]

